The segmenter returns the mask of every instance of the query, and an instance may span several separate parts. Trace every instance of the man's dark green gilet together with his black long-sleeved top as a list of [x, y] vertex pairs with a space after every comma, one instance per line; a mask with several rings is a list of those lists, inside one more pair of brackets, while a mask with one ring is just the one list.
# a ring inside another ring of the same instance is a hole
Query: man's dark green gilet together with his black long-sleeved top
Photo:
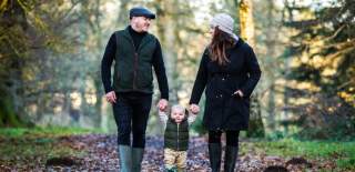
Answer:
[[[114, 63], [113, 84], [111, 64]], [[148, 33], [135, 32], [130, 26], [114, 32], [105, 48], [101, 62], [101, 75], [105, 92], [152, 93], [152, 67], [156, 74], [162, 99], [169, 99], [168, 79], [159, 40]]]

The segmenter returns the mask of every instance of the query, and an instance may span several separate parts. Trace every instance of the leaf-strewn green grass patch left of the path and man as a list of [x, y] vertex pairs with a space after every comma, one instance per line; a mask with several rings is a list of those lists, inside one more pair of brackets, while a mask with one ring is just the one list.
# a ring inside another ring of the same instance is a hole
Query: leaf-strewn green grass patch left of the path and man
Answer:
[[[103, 133], [101, 130], [80, 128], [6, 128], [0, 129], [0, 162], [27, 165], [37, 158], [77, 156], [87, 154], [68, 144], [59, 144], [59, 138], [75, 134]], [[42, 162], [43, 164], [44, 162]]]

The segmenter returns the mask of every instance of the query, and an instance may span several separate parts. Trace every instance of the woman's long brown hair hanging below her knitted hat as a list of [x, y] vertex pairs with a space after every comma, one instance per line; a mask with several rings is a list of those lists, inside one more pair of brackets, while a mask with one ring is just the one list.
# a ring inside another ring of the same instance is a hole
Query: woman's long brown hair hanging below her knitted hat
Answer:
[[215, 27], [212, 42], [209, 47], [212, 61], [217, 61], [220, 65], [230, 62], [225, 55], [225, 49], [231, 48], [235, 42], [236, 41], [229, 33], [219, 29], [219, 27]]

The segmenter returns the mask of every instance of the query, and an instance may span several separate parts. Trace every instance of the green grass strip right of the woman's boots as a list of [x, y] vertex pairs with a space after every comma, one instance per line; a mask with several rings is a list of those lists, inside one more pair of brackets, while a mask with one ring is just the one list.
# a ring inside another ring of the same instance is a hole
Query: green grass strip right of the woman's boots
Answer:
[[303, 156], [311, 160], [327, 160], [336, 163], [338, 170], [355, 170], [355, 142], [300, 141], [283, 139], [278, 141], [242, 142], [242, 153], [250, 150], [266, 155], [284, 158]]

